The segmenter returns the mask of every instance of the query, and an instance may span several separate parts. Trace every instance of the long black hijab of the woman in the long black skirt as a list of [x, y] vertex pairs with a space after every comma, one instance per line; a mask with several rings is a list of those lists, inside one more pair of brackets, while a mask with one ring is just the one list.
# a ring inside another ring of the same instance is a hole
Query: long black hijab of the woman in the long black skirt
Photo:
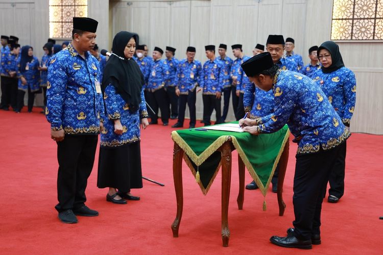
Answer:
[[104, 69], [101, 89], [104, 93], [106, 86], [111, 83], [117, 93], [120, 94], [129, 105], [129, 109], [135, 112], [141, 103], [141, 89], [144, 80], [138, 64], [133, 59], [125, 58], [124, 55], [125, 46], [132, 37], [138, 45], [137, 34], [121, 31], [114, 36], [112, 55]]

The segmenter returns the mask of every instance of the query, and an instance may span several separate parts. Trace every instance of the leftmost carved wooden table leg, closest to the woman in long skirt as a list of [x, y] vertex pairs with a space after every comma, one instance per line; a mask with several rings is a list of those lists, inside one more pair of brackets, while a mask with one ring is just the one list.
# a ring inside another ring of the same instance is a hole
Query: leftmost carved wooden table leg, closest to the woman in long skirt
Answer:
[[178, 237], [178, 228], [180, 226], [183, 209], [183, 189], [182, 189], [182, 157], [183, 150], [177, 143], [174, 143], [173, 150], [173, 179], [174, 188], [177, 197], [177, 216], [172, 223], [173, 237]]

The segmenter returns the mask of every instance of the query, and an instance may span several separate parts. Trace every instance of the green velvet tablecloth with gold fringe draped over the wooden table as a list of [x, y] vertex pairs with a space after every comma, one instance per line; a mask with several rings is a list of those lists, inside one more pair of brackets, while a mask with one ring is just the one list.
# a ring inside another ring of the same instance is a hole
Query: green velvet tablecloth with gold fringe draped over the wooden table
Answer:
[[173, 131], [172, 139], [185, 151], [184, 159], [194, 176], [199, 172], [197, 181], [206, 195], [221, 167], [221, 152], [217, 149], [231, 137], [238, 155], [266, 196], [289, 134], [287, 125], [276, 133], [258, 136], [245, 132], [186, 129]]

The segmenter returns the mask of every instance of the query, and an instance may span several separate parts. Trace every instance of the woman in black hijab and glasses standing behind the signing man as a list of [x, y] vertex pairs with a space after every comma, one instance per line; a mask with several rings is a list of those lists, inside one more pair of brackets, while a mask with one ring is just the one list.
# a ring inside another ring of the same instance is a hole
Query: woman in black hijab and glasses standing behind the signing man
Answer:
[[[333, 41], [322, 43], [317, 51], [322, 68], [317, 70], [312, 78], [322, 88], [332, 107], [337, 111], [345, 126], [350, 126], [350, 120], [355, 108], [356, 80], [355, 74], [344, 66], [339, 46]], [[338, 139], [338, 137], [334, 137]], [[331, 170], [329, 179], [328, 202], [336, 203], [344, 193], [344, 176], [346, 146]]]

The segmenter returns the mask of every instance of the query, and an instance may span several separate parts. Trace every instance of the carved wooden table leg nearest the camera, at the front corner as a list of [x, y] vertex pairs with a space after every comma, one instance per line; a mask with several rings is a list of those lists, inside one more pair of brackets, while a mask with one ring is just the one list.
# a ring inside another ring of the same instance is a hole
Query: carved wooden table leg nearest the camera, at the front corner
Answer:
[[231, 146], [230, 142], [225, 142], [221, 147], [222, 152], [222, 245], [229, 245], [230, 231], [228, 225], [230, 182], [231, 182]]

